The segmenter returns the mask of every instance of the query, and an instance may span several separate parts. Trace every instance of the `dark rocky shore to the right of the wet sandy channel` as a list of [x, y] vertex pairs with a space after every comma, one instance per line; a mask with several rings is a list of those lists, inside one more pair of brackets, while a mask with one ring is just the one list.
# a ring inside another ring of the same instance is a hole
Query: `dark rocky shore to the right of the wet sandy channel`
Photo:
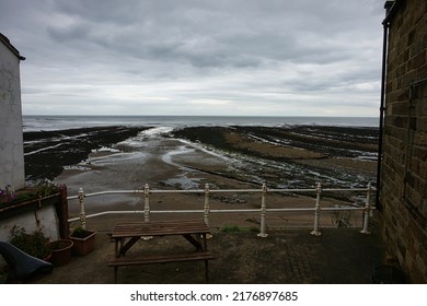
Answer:
[[233, 165], [227, 176], [274, 187], [366, 187], [376, 181], [377, 128], [196, 127], [172, 137], [236, 156], [243, 164]]

